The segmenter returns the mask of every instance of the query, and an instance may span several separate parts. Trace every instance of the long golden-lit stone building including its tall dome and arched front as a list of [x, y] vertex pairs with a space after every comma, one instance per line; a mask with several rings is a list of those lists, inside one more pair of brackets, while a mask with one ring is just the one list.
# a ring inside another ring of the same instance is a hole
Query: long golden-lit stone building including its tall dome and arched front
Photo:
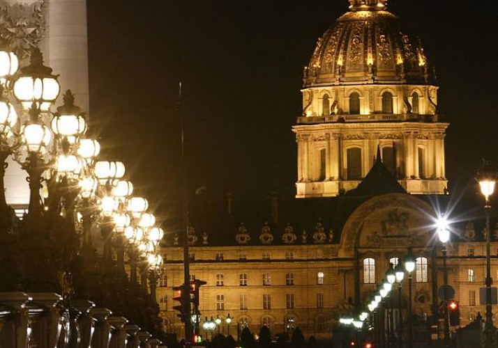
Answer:
[[[450, 209], [450, 219], [459, 216], [451, 224], [447, 270], [460, 324], [484, 313], [478, 301], [485, 276], [483, 201], [473, 194], [454, 205], [448, 195], [448, 123], [438, 114], [429, 62], [386, 1], [349, 1], [304, 70], [303, 112], [292, 129], [296, 198], [272, 193], [254, 202], [231, 195], [190, 202], [190, 276], [207, 282], [200, 291], [203, 318], [232, 317], [218, 329], [225, 334], [244, 326], [257, 333], [262, 325], [290, 333], [299, 326], [307, 337], [331, 339], [340, 315], [364, 308], [389, 265], [412, 248], [412, 299], [405, 277], [401, 315], [406, 322], [412, 303], [416, 338], [436, 338], [443, 269], [435, 221]], [[181, 227], [165, 230], [171, 232], [158, 299], [165, 331], [181, 337], [172, 310], [172, 287], [183, 283], [182, 239], [173, 232]], [[495, 257], [492, 263], [497, 274]], [[386, 306], [397, 322], [399, 308]]]

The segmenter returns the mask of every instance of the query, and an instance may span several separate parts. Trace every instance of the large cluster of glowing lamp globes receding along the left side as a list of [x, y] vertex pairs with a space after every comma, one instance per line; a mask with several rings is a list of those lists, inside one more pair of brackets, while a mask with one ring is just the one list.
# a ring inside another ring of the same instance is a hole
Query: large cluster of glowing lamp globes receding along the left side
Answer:
[[[163, 260], [156, 250], [163, 230], [146, 212], [147, 200], [132, 196], [133, 184], [123, 180], [121, 161], [97, 161], [100, 145], [85, 136], [86, 116], [70, 90], [63, 95], [64, 104], [50, 111], [59, 93], [57, 75], [43, 65], [39, 49], [33, 49], [24, 68], [14, 52], [0, 49], [0, 152], [13, 155], [24, 169], [42, 166], [45, 179], [67, 180], [79, 189], [77, 204], [92, 203], [100, 209], [100, 216], [114, 223], [114, 232], [137, 246], [151, 267], [159, 267]], [[21, 117], [9, 102], [12, 96], [20, 104]], [[44, 194], [47, 191], [43, 187]], [[83, 215], [77, 212], [75, 223]]]

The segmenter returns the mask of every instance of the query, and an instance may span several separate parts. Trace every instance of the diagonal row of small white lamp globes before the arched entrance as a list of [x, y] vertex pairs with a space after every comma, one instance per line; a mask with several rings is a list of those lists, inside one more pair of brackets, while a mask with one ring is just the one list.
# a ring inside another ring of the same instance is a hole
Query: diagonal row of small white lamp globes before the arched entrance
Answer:
[[409, 255], [407, 255], [405, 259], [405, 267], [403, 267], [401, 263], [398, 263], [396, 267], [390, 267], [388, 269], [386, 278], [384, 279], [382, 284], [377, 285], [377, 290], [372, 295], [372, 299], [370, 299], [367, 308], [361, 311], [359, 315], [347, 315], [345, 317], [340, 317], [340, 324], [346, 326], [352, 325], [355, 329], [362, 329], [363, 324], [365, 323], [366, 319], [368, 319], [369, 315], [371, 315], [377, 309], [377, 307], [379, 307], [379, 304], [382, 302], [382, 300], [391, 293], [391, 291], [393, 290], [393, 284], [401, 283], [403, 281], [403, 278], [405, 278], [405, 271], [411, 274], [414, 269], [415, 259], [413, 255], [409, 253]]

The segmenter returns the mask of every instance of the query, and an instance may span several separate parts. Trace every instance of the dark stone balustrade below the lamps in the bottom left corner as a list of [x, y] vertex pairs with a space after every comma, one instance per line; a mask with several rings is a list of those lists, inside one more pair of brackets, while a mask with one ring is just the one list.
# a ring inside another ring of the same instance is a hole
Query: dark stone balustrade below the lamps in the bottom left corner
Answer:
[[0, 348], [161, 348], [128, 319], [91, 301], [63, 308], [54, 293], [0, 292]]

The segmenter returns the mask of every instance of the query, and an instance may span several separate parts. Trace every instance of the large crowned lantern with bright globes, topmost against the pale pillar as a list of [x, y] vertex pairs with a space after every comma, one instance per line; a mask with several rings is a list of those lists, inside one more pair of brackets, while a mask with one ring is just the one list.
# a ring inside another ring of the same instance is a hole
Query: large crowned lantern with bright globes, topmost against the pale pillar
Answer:
[[48, 111], [60, 90], [57, 76], [52, 74], [51, 68], [43, 65], [40, 49], [33, 49], [30, 64], [21, 68], [14, 81], [14, 96], [22, 104], [22, 109], [28, 110], [31, 103], [36, 102], [41, 111]]

